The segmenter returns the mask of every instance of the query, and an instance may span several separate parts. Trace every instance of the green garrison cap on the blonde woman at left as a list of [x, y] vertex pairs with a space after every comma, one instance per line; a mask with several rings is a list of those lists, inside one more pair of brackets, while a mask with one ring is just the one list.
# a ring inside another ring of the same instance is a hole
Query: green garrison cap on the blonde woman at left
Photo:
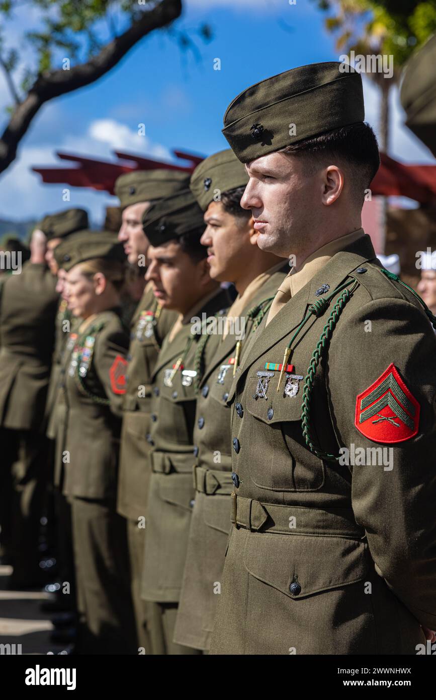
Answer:
[[106, 258], [124, 262], [126, 254], [124, 246], [111, 231], [85, 230], [68, 237], [53, 251], [54, 259], [59, 267], [67, 272], [74, 265], [93, 258]]

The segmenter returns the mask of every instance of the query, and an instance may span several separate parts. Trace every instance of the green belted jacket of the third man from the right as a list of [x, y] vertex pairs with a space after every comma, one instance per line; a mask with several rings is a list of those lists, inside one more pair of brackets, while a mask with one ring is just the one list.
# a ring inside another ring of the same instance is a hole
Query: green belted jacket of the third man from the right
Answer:
[[[196, 311], [202, 318], [224, 313], [228, 293], [219, 290]], [[152, 374], [154, 393], [150, 428], [150, 490], [145, 533], [142, 596], [177, 602], [182, 586], [189, 523], [194, 505], [194, 422], [196, 419], [196, 345], [201, 339], [187, 321], [171, 342], [163, 341]], [[173, 369], [182, 359], [179, 369]], [[196, 372], [195, 375], [191, 374]], [[174, 374], [171, 378], [171, 374]]]

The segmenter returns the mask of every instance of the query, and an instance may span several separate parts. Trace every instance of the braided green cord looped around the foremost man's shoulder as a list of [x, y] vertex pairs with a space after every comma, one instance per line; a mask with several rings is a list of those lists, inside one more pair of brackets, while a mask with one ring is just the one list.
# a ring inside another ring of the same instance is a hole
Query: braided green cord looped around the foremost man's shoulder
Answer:
[[[349, 288], [350, 285], [351, 288]], [[332, 300], [332, 298], [335, 295], [337, 295], [337, 293], [342, 292], [342, 294], [339, 297], [337, 297], [335, 305], [333, 306], [330, 316], [328, 317], [327, 323], [324, 326], [323, 332], [321, 333], [321, 337], [319, 338], [317, 346], [315, 347], [314, 352], [312, 354], [310, 365], [307, 369], [307, 375], [305, 377], [305, 383], [303, 388], [303, 403], [301, 405], [301, 423], [303, 428], [303, 436], [305, 438], [307, 447], [309, 447], [312, 454], [315, 454], [320, 459], [324, 459], [326, 461], [337, 461], [340, 457], [335, 456], [334, 454], [329, 454], [328, 452], [324, 452], [318, 447], [316, 447], [314, 444], [314, 439], [310, 432], [310, 399], [312, 396], [313, 381], [314, 376], [317, 372], [317, 366], [321, 361], [324, 351], [328, 348], [328, 343], [330, 342], [330, 338], [332, 336], [333, 330], [335, 329], [335, 325], [337, 321], [339, 321], [342, 309], [344, 308], [345, 304], [347, 304], [347, 301], [349, 301], [351, 295], [354, 293], [354, 290], [356, 290], [358, 286], [358, 281], [354, 279], [354, 277], [351, 277], [348, 281], [345, 281], [343, 284], [341, 284], [339, 287], [333, 290], [331, 294], [329, 294], [326, 297], [322, 297], [321, 299], [317, 300], [314, 304], [311, 304], [310, 307], [307, 309], [307, 314], [303, 318], [303, 321], [301, 321], [296, 332], [293, 334], [291, 341], [286, 346], [286, 349], [284, 351], [283, 366], [286, 367], [289, 356], [291, 354], [291, 345], [294, 339], [296, 339], [296, 337], [298, 336], [300, 330], [303, 329], [307, 321], [309, 321], [309, 319], [312, 316], [321, 316], [322, 314], [324, 314], [324, 311], [326, 311], [330, 300]], [[282, 373], [280, 374], [279, 381], [282, 378]]]

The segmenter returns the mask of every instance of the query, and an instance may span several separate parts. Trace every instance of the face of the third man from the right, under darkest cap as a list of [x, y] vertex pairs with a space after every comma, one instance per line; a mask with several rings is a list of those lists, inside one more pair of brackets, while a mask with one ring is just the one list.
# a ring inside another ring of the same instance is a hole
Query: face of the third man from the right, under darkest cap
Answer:
[[164, 309], [184, 314], [203, 295], [205, 280], [210, 281], [207, 262], [194, 262], [176, 241], [150, 246], [149, 258], [145, 279], [152, 281], [154, 296]]

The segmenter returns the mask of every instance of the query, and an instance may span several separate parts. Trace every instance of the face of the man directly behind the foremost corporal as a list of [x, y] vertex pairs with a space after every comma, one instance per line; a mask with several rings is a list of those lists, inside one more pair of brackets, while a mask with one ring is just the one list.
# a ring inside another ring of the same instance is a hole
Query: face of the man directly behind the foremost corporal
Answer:
[[228, 214], [221, 202], [210, 202], [204, 220], [207, 226], [201, 244], [208, 246], [210, 276], [221, 282], [234, 282], [244, 265], [253, 221]]

